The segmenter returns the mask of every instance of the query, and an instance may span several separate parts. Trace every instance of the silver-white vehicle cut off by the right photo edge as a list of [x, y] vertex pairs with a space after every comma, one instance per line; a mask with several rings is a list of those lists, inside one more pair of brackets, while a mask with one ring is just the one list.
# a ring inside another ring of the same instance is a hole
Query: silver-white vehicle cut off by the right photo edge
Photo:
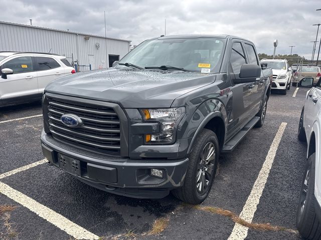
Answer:
[[[311, 87], [313, 78], [306, 77], [301, 86]], [[321, 81], [306, 92], [301, 111], [298, 139], [307, 141], [307, 162], [301, 184], [296, 225], [300, 234], [310, 240], [320, 239], [321, 232]]]

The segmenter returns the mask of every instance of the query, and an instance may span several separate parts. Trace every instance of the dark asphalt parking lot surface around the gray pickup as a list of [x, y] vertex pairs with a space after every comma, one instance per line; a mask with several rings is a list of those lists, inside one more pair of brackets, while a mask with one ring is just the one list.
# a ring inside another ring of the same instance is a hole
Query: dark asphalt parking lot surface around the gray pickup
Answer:
[[[249, 228], [245, 239], [301, 239], [295, 231], [295, 216], [306, 145], [297, 140], [296, 132], [308, 89], [299, 88], [293, 97], [294, 90], [291, 87], [287, 95], [272, 92], [263, 127], [252, 129], [232, 153], [220, 157], [210, 195], [199, 207], [183, 204], [172, 195], [134, 199], [107, 193], [47, 163], [1, 178], [3, 173], [44, 158], [42, 117], [14, 120], [41, 114], [39, 102], [0, 109], [0, 183], [13, 188], [10, 194], [18, 191], [101, 239], [228, 239], [235, 223], [223, 209], [241, 213], [279, 126], [286, 122], [252, 219], [252, 223], [268, 224]], [[68, 234], [70, 224], [52, 224], [41, 217], [41, 210], [35, 213], [27, 203], [26, 207], [13, 200], [1, 184], [0, 192], [1, 239], [79, 238]], [[6, 205], [15, 208], [2, 213]], [[269, 224], [279, 226], [278, 230], [266, 230]], [[161, 230], [155, 234], [157, 226]]]

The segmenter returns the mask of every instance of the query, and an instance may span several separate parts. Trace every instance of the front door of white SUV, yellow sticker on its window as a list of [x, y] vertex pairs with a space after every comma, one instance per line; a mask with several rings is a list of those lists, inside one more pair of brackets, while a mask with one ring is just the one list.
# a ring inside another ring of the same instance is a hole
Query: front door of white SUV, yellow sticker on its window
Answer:
[[7, 75], [7, 79], [0, 77], [2, 100], [38, 94], [37, 73], [31, 56], [10, 58], [0, 66], [3, 68], [12, 69], [13, 74]]

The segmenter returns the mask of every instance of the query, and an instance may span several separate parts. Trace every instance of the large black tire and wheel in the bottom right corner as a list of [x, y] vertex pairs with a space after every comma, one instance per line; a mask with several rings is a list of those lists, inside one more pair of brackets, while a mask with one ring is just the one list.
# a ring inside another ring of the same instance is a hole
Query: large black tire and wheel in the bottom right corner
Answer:
[[315, 153], [309, 156], [303, 175], [299, 204], [296, 212], [296, 227], [309, 240], [321, 239], [320, 221], [315, 213], [314, 196]]

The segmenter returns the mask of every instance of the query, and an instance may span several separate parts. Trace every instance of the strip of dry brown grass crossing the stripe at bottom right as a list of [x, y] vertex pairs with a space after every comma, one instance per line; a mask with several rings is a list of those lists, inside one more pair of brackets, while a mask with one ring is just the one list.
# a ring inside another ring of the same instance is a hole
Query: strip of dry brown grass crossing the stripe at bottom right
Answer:
[[214, 206], [200, 206], [195, 205], [193, 206], [195, 209], [211, 212], [214, 214], [219, 214], [222, 216], [230, 217], [235, 223], [239, 223], [243, 226], [246, 226], [248, 228], [254, 229], [254, 230], [261, 230], [261, 231], [287, 231], [292, 233], [297, 233], [297, 230], [286, 228], [283, 226], [277, 226], [277, 225], [271, 225], [270, 223], [252, 223], [248, 222], [241, 217], [239, 217], [236, 213], [220, 208], [220, 207], [214, 207]]

